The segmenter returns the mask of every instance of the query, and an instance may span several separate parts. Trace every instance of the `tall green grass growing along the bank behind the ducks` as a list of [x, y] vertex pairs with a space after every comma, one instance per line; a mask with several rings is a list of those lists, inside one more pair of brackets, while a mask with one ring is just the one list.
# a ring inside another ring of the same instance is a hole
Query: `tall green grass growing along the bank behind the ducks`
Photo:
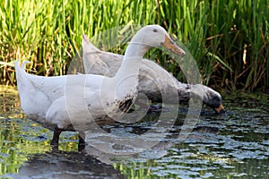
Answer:
[[[80, 52], [82, 33], [91, 38], [117, 26], [157, 23], [188, 47], [204, 84], [214, 89], [265, 90], [269, 86], [268, 9], [269, 0], [4, 0], [0, 3], [0, 83], [14, 84], [15, 59], [30, 60], [29, 69], [39, 75], [65, 74]], [[124, 49], [110, 50], [122, 54]], [[177, 63], [156, 53], [148, 57], [184, 81]]]

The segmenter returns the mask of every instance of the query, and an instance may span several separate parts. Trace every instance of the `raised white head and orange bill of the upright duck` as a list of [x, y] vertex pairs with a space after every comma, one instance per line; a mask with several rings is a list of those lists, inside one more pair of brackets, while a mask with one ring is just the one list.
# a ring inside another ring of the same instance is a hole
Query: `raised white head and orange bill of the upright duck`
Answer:
[[168, 32], [159, 25], [143, 27], [136, 33], [130, 44], [143, 47], [144, 53], [152, 47], [165, 47], [176, 55], [186, 55], [185, 51], [169, 38]]

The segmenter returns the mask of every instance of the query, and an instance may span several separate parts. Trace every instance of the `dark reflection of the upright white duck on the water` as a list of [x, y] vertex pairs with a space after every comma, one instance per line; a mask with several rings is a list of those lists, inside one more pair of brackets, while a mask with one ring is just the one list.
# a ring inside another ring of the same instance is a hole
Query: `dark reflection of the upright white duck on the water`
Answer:
[[13, 178], [125, 178], [113, 166], [82, 152], [58, 151], [30, 155]]

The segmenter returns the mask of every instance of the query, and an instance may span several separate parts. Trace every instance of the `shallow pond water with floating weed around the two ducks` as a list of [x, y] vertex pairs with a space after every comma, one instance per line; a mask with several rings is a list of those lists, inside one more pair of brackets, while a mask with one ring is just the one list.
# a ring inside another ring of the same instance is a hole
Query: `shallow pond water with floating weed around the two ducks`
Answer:
[[[90, 145], [78, 151], [75, 132], [64, 132], [59, 151], [53, 151], [49, 145], [52, 132], [22, 115], [16, 90], [1, 87], [0, 95], [2, 178], [269, 178], [269, 96], [265, 94], [223, 95], [228, 114], [214, 115], [204, 107], [184, 141], [177, 137], [187, 106], [180, 106], [176, 124], [158, 147], [126, 156]], [[110, 124], [104, 129], [136, 139], [159, 115], [148, 114], [141, 123]], [[95, 133], [88, 140], [101, 143], [101, 139]], [[123, 153], [135, 150], [120, 143], [110, 147]]]

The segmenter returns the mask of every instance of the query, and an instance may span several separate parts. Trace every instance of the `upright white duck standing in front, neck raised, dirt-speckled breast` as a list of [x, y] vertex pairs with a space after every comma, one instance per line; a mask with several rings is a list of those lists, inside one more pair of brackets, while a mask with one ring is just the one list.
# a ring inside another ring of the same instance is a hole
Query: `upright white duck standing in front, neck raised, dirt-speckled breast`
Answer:
[[[113, 77], [96, 74], [43, 77], [29, 74], [15, 62], [16, 80], [23, 112], [54, 131], [57, 146], [63, 131], [80, 132], [120, 118], [137, 95], [138, 73], [143, 55], [151, 47], [166, 47], [177, 55], [185, 52], [166, 30], [149, 25], [139, 30], [126, 48], [123, 62]], [[96, 123], [94, 123], [96, 122]]]

